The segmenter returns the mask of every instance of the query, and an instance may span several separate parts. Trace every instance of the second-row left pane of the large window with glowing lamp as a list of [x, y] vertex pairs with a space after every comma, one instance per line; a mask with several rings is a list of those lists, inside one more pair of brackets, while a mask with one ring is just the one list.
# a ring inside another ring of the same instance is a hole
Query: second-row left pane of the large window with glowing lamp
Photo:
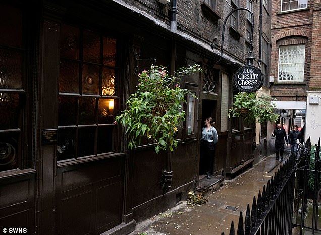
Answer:
[[79, 65], [77, 63], [60, 62], [59, 92], [79, 93]]

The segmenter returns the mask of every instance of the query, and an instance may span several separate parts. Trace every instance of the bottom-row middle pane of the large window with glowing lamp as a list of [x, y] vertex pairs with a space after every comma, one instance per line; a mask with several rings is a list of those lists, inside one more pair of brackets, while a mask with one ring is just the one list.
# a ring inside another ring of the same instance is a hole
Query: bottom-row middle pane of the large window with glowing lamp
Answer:
[[94, 154], [95, 128], [79, 128], [78, 157]]

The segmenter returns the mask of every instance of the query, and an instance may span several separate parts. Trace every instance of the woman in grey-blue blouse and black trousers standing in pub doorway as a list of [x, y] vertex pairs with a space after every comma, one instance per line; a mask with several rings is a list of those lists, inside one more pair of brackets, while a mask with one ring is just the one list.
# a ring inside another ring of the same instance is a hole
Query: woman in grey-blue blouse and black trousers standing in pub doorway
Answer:
[[207, 179], [210, 179], [213, 174], [215, 144], [218, 142], [218, 133], [214, 128], [215, 123], [211, 117], [206, 118], [204, 124], [201, 138], [201, 159], [205, 164]]

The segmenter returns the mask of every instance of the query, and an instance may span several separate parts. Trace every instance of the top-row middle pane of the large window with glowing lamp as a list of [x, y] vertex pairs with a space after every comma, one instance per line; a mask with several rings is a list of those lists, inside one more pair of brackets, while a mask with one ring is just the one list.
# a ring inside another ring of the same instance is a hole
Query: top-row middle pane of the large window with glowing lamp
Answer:
[[84, 31], [83, 59], [95, 63], [100, 59], [100, 36], [88, 30]]

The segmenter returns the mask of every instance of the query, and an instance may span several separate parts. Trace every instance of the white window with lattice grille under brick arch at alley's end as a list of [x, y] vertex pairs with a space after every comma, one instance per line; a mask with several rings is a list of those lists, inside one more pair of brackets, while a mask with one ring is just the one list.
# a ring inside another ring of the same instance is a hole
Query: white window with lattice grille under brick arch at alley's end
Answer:
[[[288, 50], [285, 52], [285, 50]], [[299, 52], [299, 54], [293, 54]], [[280, 53], [285, 54], [282, 56]], [[284, 58], [287, 57], [287, 58]], [[279, 46], [278, 82], [295, 83], [304, 80], [305, 44]], [[285, 73], [286, 75], [280, 73]]]

